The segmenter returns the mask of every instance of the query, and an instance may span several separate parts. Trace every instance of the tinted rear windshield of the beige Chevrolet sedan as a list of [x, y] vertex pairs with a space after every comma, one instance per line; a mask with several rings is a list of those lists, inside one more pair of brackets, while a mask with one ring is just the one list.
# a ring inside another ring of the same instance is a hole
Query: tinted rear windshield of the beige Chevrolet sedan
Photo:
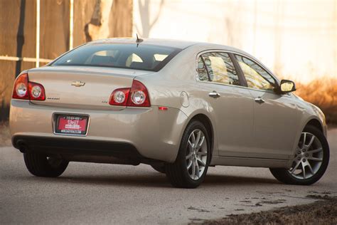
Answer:
[[159, 71], [180, 48], [139, 43], [91, 43], [66, 53], [51, 66], [103, 66]]

